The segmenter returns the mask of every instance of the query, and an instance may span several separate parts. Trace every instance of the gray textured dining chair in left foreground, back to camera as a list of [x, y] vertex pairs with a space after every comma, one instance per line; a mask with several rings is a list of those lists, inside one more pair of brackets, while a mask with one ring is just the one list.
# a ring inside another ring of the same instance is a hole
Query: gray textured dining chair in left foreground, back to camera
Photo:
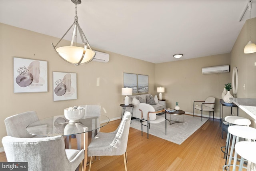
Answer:
[[65, 150], [60, 135], [44, 138], [6, 136], [2, 144], [7, 161], [28, 162], [28, 171], [74, 171], [84, 159], [84, 149]]

